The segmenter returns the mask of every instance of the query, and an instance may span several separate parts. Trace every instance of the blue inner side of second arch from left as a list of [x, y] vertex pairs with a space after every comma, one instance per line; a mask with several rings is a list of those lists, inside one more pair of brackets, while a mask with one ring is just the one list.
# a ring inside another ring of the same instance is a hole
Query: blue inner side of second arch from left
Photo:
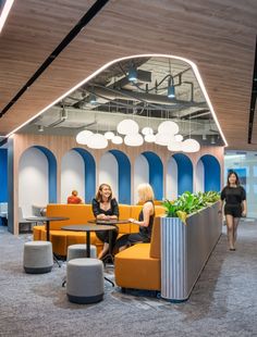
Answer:
[[73, 148], [81, 154], [85, 164], [85, 202], [90, 203], [96, 195], [96, 163], [94, 157], [81, 148]]

